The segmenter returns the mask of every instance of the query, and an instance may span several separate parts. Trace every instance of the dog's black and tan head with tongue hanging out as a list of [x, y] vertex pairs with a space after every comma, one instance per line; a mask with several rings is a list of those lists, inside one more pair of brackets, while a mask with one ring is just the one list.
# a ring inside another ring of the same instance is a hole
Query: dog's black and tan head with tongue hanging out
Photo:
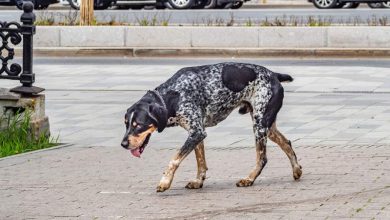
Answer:
[[167, 110], [153, 100], [142, 99], [125, 114], [126, 133], [122, 147], [140, 157], [154, 131], [162, 132], [167, 126]]

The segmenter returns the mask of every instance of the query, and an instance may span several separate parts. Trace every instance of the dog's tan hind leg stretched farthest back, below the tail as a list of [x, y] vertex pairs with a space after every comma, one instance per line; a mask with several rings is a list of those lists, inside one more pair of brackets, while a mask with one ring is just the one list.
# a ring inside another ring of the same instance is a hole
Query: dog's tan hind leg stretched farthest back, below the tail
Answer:
[[302, 166], [298, 164], [297, 156], [292, 149], [291, 142], [287, 140], [282, 133], [276, 128], [276, 122], [272, 125], [268, 132], [268, 137], [271, 141], [279, 145], [280, 148], [286, 153], [293, 169], [293, 176], [295, 180], [298, 180], [302, 175]]

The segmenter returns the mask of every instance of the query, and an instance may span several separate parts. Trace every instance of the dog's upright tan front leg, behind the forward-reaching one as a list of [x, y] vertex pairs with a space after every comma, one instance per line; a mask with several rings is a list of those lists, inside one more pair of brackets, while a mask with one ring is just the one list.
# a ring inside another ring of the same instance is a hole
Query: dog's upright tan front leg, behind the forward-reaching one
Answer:
[[206, 171], [207, 171], [207, 165], [206, 165], [206, 157], [204, 152], [204, 144], [203, 141], [198, 144], [195, 148], [195, 156], [196, 156], [196, 162], [198, 164], [198, 173], [196, 175], [196, 179], [193, 181], [190, 181], [187, 185], [187, 189], [199, 189], [203, 186], [203, 181], [206, 179]]

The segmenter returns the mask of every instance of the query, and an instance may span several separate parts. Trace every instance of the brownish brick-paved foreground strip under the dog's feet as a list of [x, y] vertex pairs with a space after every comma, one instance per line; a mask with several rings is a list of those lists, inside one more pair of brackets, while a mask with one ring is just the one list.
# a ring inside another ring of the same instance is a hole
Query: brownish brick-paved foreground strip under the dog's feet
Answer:
[[256, 183], [235, 182], [254, 166], [251, 147], [206, 148], [204, 188], [191, 154], [171, 190], [155, 187], [174, 150], [149, 147], [142, 159], [119, 147], [67, 147], [0, 161], [2, 219], [389, 219], [389, 146], [296, 147], [294, 181], [276, 147]]

